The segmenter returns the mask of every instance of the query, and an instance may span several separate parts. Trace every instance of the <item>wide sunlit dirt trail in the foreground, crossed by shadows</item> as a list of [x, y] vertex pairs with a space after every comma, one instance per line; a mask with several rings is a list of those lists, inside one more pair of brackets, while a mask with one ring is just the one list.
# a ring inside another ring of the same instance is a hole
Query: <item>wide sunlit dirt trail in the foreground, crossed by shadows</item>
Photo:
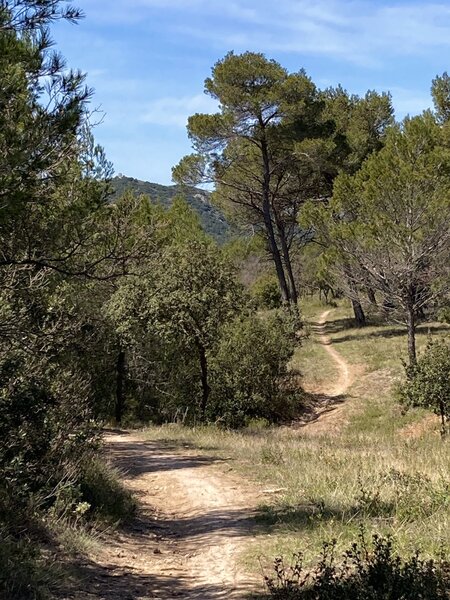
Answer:
[[[226, 464], [189, 446], [178, 454], [137, 434], [106, 437], [112, 462], [140, 501], [138, 519], [85, 563], [86, 600], [218, 600], [258, 587], [239, 564], [258, 494]], [[228, 471], [230, 471], [228, 467]]]

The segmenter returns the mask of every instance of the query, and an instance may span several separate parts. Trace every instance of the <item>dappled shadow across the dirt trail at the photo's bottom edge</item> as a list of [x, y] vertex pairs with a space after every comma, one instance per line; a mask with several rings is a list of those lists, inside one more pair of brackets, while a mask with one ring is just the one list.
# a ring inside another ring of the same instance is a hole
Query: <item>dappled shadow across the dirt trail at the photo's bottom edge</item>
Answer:
[[[176, 571], [176, 568], [173, 569]], [[199, 584], [194, 577], [177, 573], [167, 575], [140, 574], [132, 566], [124, 568], [100, 565], [83, 560], [71, 568], [72, 582], [61, 589], [60, 600], [222, 600], [230, 598], [233, 589], [226, 585]], [[249, 594], [251, 583], [239, 589]], [[83, 595], [81, 595], [83, 594]]]

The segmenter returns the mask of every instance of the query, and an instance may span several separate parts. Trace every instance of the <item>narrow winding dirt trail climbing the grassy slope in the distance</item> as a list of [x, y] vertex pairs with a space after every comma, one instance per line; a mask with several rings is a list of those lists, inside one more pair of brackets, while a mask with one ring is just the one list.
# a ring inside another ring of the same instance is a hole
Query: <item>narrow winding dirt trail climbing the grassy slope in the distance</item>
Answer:
[[[345, 394], [355, 380], [361, 368], [349, 364], [345, 358], [332, 346], [330, 338], [325, 333], [327, 318], [332, 309], [324, 311], [312, 327], [323, 348], [331, 356], [337, 366], [338, 377], [331, 380], [325, 388], [310, 390], [316, 396], [312, 414], [304, 422], [303, 430], [308, 434], [337, 433], [347, 420], [349, 400]], [[344, 402], [345, 400], [345, 402]]]

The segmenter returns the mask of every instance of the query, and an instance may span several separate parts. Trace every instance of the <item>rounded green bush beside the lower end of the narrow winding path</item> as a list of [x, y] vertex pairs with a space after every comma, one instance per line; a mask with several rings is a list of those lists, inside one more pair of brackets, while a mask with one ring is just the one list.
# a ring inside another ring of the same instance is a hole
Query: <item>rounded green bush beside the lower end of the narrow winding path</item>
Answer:
[[281, 313], [268, 319], [245, 316], [225, 326], [211, 359], [208, 417], [229, 427], [290, 418], [300, 401], [288, 369], [294, 347], [291, 323]]

